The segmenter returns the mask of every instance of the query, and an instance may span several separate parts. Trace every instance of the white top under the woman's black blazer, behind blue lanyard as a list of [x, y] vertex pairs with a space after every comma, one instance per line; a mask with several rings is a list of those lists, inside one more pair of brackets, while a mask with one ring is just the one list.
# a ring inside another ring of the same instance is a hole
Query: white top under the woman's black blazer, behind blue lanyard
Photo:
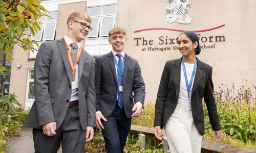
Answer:
[[[191, 79], [192, 72], [193, 72], [195, 64], [188, 64], [188, 63], [185, 63], [185, 62], [184, 62], [184, 64], [185, 64], [185, 69], [186, 69], [186, 73], [187, 73], [187, 81], [188, 81], [188, 85], [189, 85], [189, 82], [190, 82], [190, 79]], [[195, 74], [195, 77], [196, 77], [196, 74]], [[189, 92], [190, 97], [191, 97], [191, 92], [192, 92], [192, 88], [193, 88], [195, 77], [193, 79], [193, 82], [192, 82], [192, 85], [191, 85], [191, 88], [190, 88], [190, 92]], [[181, 64], [181, 71], [180, 71], [180, 93], [179, 93], [178, 104], [182, 104], [182, 105], [189, 104], [190, 101], [189, 101], [187, 95], [188, 95], [188, 92], [187, 92], [187, 87], [186, 87], [186, 81], [185, 81], [183, 66]]]

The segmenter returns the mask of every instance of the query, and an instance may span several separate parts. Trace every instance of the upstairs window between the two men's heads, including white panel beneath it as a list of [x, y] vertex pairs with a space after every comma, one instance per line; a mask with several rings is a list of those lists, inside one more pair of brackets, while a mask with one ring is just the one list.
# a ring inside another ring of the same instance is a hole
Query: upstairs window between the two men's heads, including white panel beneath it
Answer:
[[109, 53], [112, 46], [109, 44], [109, 31], [116, 23], [116, 4], [90, 6], [87, 13], [92, 18], [93, 30], [87, 36], [84, 48], [92, 56]]

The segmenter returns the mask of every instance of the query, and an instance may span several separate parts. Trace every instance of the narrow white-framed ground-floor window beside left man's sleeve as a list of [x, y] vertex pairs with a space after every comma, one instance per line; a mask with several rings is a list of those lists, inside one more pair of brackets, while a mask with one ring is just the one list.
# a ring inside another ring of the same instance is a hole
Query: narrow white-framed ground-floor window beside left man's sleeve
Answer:
[[28, 83], [27, 83], [27, 92], [26, 92], [26, 104], [25, 110], [28, 110], [32, 107], [35, 100], [34, 92], [34, 70], [28, 70]]

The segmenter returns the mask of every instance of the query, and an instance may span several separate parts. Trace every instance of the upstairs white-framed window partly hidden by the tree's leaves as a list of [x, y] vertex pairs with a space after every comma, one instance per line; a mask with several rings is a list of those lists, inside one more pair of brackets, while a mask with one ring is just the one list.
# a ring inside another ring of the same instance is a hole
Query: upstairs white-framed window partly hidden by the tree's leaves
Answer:
[[31, 35], [31, 38], [36, 41], [46, 41], [46, 40], [54, 40], [55, 32], [56, 32], [56, 24], [58, 12], [49, 12], [48, 14], [52, 18], [41, 16], [39, 19], [41, 24], [39, 24], [41, 30], [35, 33], [35, 36]]

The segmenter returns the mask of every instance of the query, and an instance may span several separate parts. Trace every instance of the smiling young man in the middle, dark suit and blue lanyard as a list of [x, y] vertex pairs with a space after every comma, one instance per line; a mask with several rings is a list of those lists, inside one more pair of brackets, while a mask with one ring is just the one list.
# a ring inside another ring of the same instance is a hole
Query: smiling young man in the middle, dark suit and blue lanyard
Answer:
[[124, 52], [125, 34], [122, 28], [111, 29], [112, 52], [95, 60], [96, 127], [108, 153], [123, 152], [132, 117], [141, 114], [145, 99], [139, 63]]

